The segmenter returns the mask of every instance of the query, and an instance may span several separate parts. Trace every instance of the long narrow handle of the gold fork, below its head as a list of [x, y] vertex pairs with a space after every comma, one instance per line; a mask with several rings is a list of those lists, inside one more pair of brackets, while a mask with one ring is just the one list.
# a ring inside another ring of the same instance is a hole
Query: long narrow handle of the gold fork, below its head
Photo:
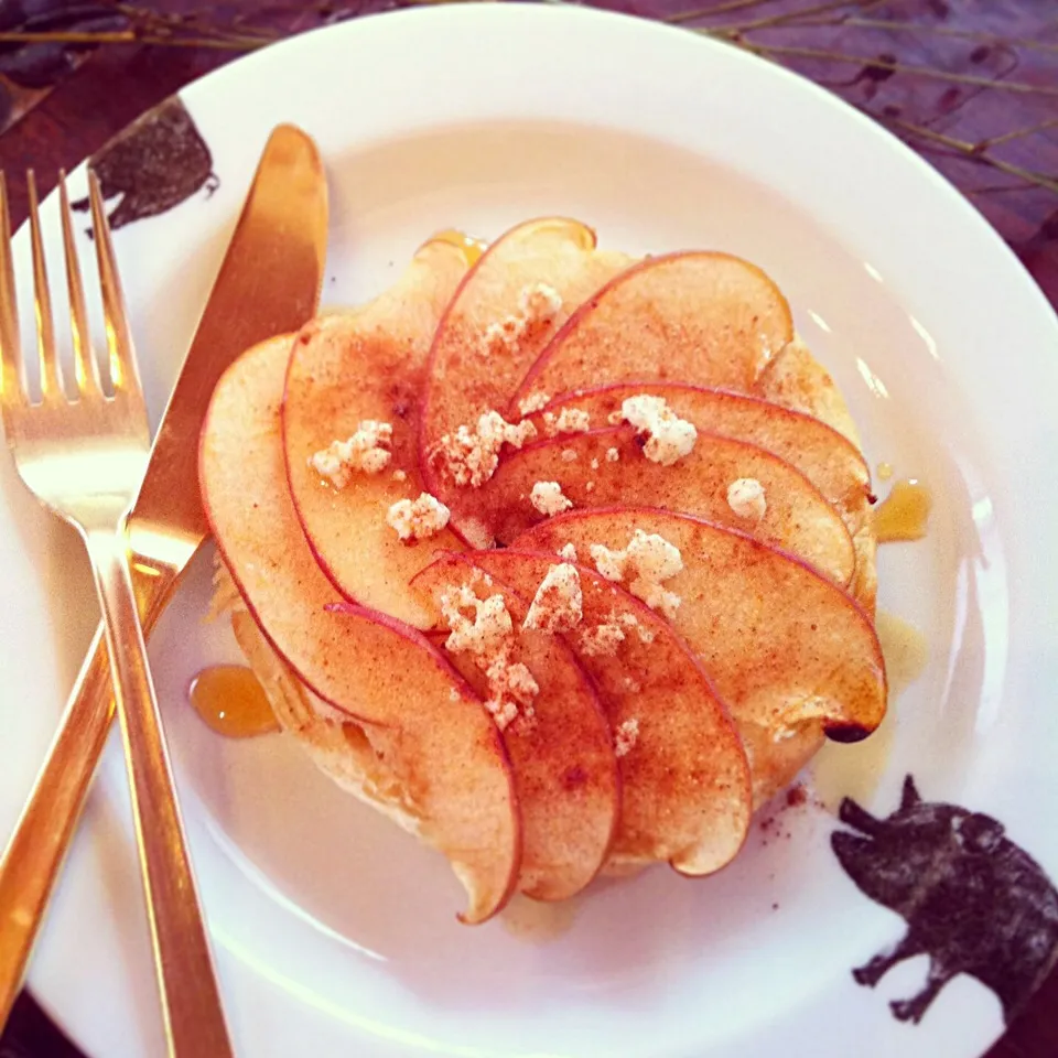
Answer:
[[86, 542], [110, 655], [170, 1054], [225, 1058], [231, 1045], [147, 665], [123, 532]]

